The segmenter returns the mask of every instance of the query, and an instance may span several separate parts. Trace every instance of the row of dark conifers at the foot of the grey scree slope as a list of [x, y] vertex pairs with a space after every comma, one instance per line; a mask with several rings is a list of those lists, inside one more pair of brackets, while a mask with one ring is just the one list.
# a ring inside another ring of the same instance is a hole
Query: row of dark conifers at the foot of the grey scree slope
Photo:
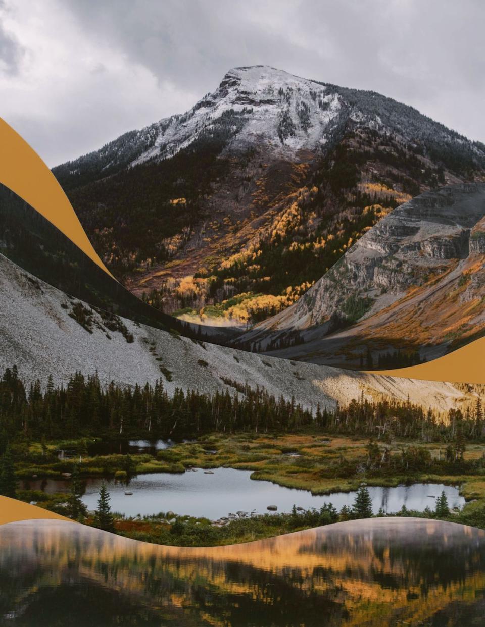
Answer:
[[315, 426], [328, 433], [356, 434], [390, 441], [392, 438], [445, 441], [450, 455], [462, 456], [466, 440], [485, 438], [482, 401], [462, 412], [450, 409], [439, 416], [409, 400], [369, 401], [361, 394], [335, 409], [304, 408], [295, 399], [275, 398], [264, 389], [241, 382], [209, 395], [176, 389], [169, 396], [161, 379], [154, 385], [102, 386], [97, 374], [75, 372], [66, 385], [55, 386], [49, 377], [26, 386], [16, 367], [0, 379], [0, 453], [9, 441], [55, 440], [102, 436], [106, 438], [184, 438], [211, 431], [294, 431]]

